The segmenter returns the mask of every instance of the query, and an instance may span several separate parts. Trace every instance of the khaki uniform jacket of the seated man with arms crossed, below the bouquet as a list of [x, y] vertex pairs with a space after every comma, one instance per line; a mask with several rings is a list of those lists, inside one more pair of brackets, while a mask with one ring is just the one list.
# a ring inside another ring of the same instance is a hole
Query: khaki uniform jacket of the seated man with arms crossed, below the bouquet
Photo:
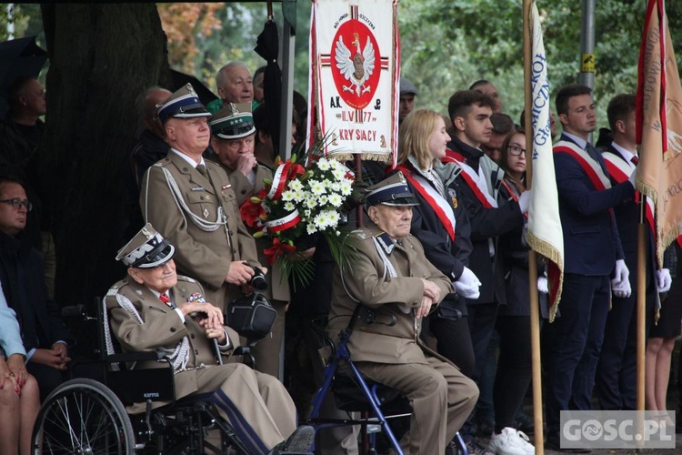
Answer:
[[[436, 283], [441, 299], [452, 292], [450, 279], [426, 260], [424, 248], [414, 236], [408, 235], [401, 240], [402, 245], [398, 245], [382, 234], [381, 229], [371, 222], [368, 227], [351, 234], [357, 258], [353, 259], [348, 273], [342, 274], [338, 268], [335, 270], [327, 332], [336, 339], [338, 333], [346, 328], [356, 308], [356, 300], [360, 300], [367, 307], [376, 308], [376, 321], [379, 323], [365, 325], [356, 321], [348, 341], [354, 361], [426, 364], [425, 353], [447, 361], [426, 348], [419, 339], [421, 319], [415, 318], [414, 311], [405, 313], [403, 308], [421, 306], [424, 295], [421, 278]], [[396, 277], [390, 277], [386, 271], [376, 249], [376, 236], [388, 239], [384, 252], [395, 268]], [[393, 318], [396, 325], [386, 326]]]

